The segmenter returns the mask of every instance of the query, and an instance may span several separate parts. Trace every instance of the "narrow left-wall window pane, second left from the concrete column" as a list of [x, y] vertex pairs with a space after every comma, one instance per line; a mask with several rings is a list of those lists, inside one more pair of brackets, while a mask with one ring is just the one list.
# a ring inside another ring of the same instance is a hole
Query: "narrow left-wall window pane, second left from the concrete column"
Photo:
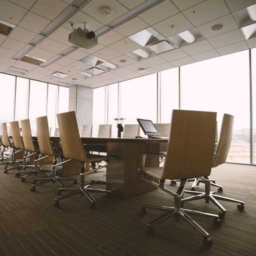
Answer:
[[56, 122], [56, 109], [57, 109], [57, 99], [58, 99], [58, 86], [53, 84], [48, 84], [48, 100], [47, 100], [47, 117], [48, 125], [51, 130], [57, 126]]

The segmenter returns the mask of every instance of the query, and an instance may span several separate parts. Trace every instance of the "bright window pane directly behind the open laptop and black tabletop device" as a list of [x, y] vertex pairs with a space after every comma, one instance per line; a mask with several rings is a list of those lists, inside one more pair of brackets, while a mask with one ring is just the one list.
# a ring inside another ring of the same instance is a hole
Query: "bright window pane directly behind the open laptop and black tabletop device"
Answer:
[[119, 83], [124, 123], [138, 123], [137, 118], [157, 122], [157, 73]]

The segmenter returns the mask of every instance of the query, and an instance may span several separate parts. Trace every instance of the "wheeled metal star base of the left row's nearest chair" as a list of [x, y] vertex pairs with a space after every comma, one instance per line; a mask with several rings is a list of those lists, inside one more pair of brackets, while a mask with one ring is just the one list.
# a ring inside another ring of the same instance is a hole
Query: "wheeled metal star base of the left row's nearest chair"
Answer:
[[91, 184], [88, 184], [84, 187], [77, 187], [77, 188], [59, 188], [57, 194], [61, 194], [62, 191], [71, 191], [63, 196], [57, 197], [55, 201], [53, 202], [53, 205], [56, 207], [59, 207], [59, 201], [63, 200], [67, 197], [73, 196], [73, 195], [84, 195], [87, 199], [90, 201], [90, 208], [95, 209], [95, 199], [92, 197], [92, 195], [89, 192], [98, 192], [98, 193], [111, 193], [111, 190], [106, 189], [97, 189], [97, 188], [90, 188]]

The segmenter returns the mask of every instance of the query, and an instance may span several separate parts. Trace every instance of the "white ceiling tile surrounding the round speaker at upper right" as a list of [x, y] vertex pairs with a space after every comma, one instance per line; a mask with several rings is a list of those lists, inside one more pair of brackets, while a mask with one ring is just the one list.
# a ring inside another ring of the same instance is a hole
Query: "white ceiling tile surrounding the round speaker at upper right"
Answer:
[[[224, 27], [219, 31], [211, 31], [211, 27], [217, 24], [222, 24]], [[226, 33], [228, 31], [237, 29], [237, 25], [232, 17], [231, 14], [226, 15], [224, 17], [221, 17], [219, 19], [216, 19], [214, 21], [205, 23], [203, 25], [200, 25], [197, 27], [197, 30], [205, 37], [214, 37], [223, 33]]]

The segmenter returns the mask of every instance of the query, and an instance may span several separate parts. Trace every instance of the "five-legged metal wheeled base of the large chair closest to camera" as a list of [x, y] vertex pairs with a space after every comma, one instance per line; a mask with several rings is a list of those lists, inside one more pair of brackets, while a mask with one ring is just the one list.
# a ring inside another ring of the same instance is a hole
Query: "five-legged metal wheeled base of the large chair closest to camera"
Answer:
[[153, 226], [169, 217], [174, 217], [174, 216], [181, 216], [183, 219], [185, 219], [189, 224], [191, 224], [202, 236], [203, 236], [203, 245], [210, 246], [212, 244], [212, 239], [209, 236], [209, 233], [203, 229], [196, 221], [194, 221], [188, 214], [197, 214], [197, 215], [202, 215], [202, 216], [208, 216], [212, 217], [213, 224], [216, 226], [221, 225], [221, 219], [219, 218], [218, 215], [216, 214], [211, 214], [207, 212], [201, 212], [201, 211], [195, 211], [195, 210], [190, 210], [190, 209], [184, 209], [184, 208], [179, 208], [177, 206], [175, 207], [168, 207], [168, 206], [154, 206], [154, 205], [145, 205], [142, 207], [142, 215], [146, 214], [146, 209], [159, 209], [159, 210], [166, 210], [167, 213], [161, 215], [160, 217], [146, 223], [147, 228], [148, 228], [148, 233], [153, 234]]

